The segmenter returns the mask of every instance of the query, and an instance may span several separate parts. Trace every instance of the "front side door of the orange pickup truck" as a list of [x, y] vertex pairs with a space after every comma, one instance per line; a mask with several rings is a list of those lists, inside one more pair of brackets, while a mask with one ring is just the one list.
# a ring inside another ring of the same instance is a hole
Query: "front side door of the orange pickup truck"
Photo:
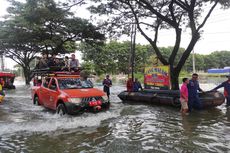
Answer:
[[58, 86], [57, 86], [57, 81], [55, 78], [52, 78], [51, 83], [49, 85], [49, 108], [51, 109], [56, 109], [56, 102], [58, 98]]

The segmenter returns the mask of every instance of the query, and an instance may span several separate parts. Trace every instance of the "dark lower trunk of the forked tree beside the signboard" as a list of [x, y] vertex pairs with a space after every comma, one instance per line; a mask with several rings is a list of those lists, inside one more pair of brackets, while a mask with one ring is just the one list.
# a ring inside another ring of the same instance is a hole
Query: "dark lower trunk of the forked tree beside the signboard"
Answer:
[[179, 90], [179, 74], [180, 71], [170, 68], [170, 78], [171, 78], [171, 89], [172, 90]]

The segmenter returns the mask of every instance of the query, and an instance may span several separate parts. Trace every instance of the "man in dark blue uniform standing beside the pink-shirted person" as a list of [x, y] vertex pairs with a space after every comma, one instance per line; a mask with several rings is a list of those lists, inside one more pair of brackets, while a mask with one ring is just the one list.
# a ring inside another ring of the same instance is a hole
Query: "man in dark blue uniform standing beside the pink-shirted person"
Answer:
[[192, 79], [188, 84], [188, 109], [191, 112], [192, 108], [202, 109], [202, 103], [199, 98], [198, 90], [204, 92], [198, 82], [198, 74], [192, 74]]

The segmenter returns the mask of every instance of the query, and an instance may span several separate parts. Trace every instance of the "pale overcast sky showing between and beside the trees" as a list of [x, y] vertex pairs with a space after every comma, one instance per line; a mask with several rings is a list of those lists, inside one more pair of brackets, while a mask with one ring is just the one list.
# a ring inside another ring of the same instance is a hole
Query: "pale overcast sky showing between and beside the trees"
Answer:
[[[8, 3], [6, 0], [1, 0], [0, 2], [0, 16], [3, 16], [6, 14]], [[84, 8], [78, 9], [77, 14], [84, 14], [84, 18], [88, 18], [90, 15]], [[203, 31], [202, 38], [194, 48], [195, 53], [209, 54], [213, 51], [230, 51], [230, 9], [222, 10], [219, 7], [215, 8], [208, 22], [205, 24]], [[173, 46], [175, 40], [173, 31], [161, 31], [159, 35], [159, 46]], [[187, 47], [189, 37], [189, 32], [183, 34], [181, 47]], [[126, 37], [122, 38], [122, 40], [125, 39], [129, 40]], [[148, 44], [141, 35], [137, 36], [136, 41], [137, 43]], [[12, 64], [6, 63], [7, 67], [9, 65]]]

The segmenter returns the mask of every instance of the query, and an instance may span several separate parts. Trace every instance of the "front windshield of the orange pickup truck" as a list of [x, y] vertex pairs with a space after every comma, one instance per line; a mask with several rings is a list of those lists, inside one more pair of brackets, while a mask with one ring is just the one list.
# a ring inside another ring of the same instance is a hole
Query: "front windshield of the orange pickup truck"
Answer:
[[58, 79], [60, 89], [84, 89], [92, 88], [93, 84], [90, 80], [80, 80], [79, 78]]

